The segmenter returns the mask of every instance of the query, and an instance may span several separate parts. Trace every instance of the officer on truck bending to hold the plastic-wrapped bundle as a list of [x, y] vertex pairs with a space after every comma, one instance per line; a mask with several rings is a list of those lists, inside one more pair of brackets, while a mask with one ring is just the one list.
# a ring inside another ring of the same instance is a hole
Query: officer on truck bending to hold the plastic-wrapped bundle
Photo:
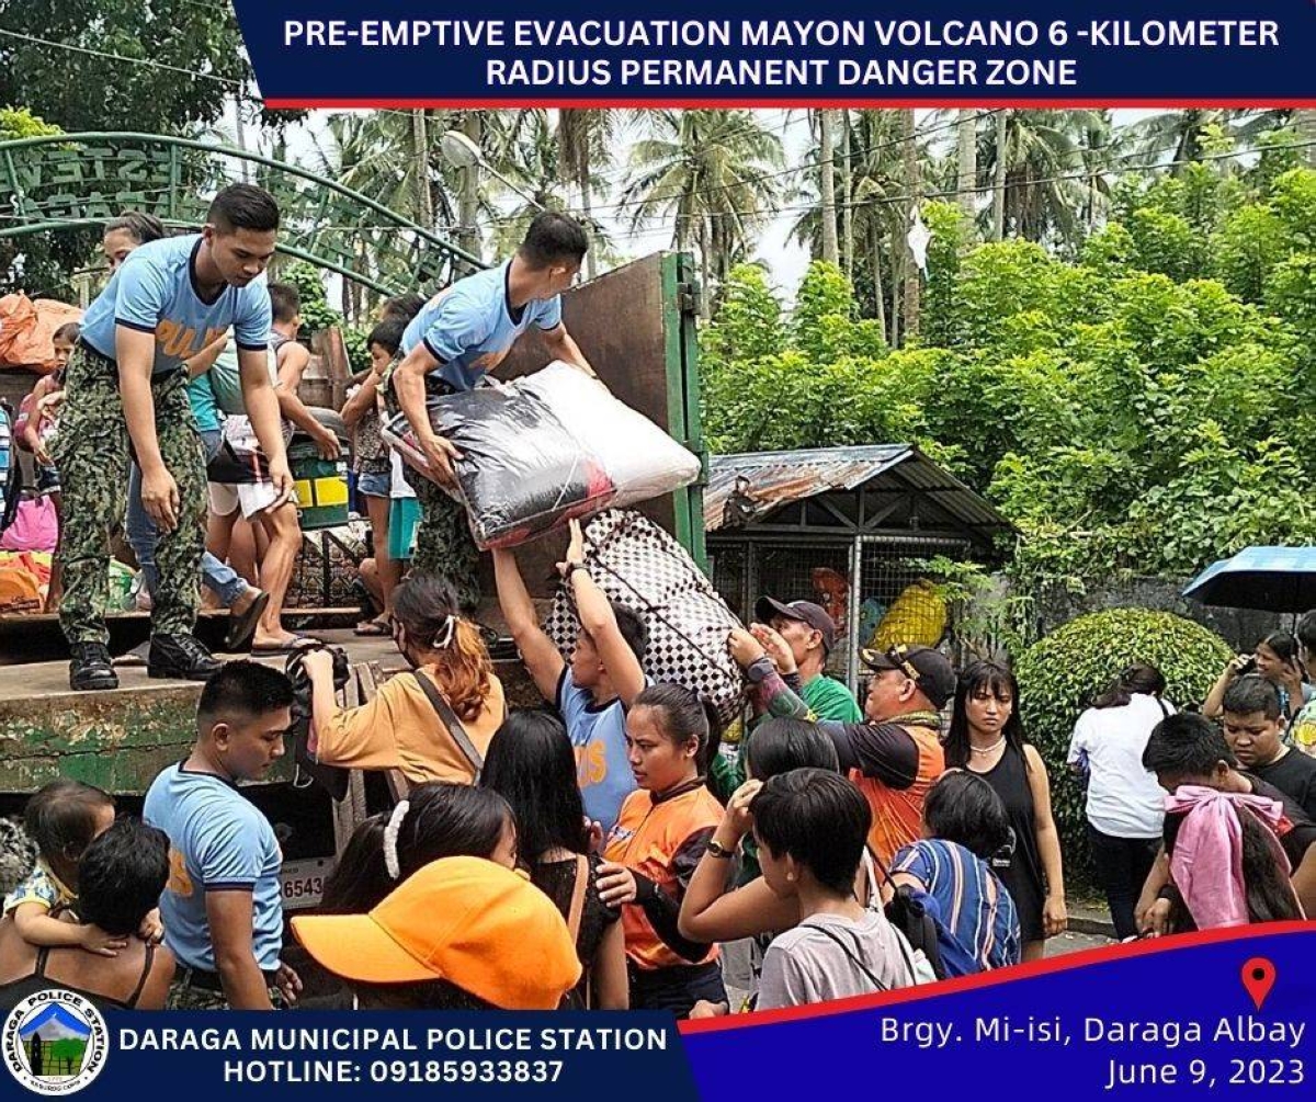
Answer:
[[[530, 224], [511, 260], [441, 291], [407, 326], [400, 362], [390, 376], [390, 401], [407, 414], [440, 481], [454, 481], [453, 460], [461, 456], [430, 426], [426, 392], [470, 391], [532, 326], [540, 330], [550, 359], [575, 364], [594, 376], [594, 368], [562, 323], [561, 299], [575, 283], [587, 249], [579, 222], [544, 212]], [[480, 596], [478, 554], [465, 509], [421, 475], [408, 472], [408, 481], [424, 514], [413, 568], [446, 576], [463, 611], [474, 611]]]

